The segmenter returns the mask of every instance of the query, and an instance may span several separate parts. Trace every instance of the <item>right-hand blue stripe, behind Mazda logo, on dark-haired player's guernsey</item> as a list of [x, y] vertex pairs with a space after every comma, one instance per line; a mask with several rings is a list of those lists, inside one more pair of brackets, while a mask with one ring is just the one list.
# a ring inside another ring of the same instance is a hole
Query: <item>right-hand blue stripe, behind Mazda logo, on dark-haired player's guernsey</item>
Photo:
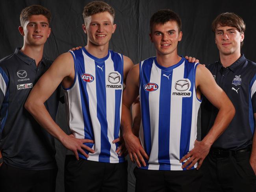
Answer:
[[[195, 65], [185, 60], [184, 78], [191, 82], [191, 97], [182, 98], [182, 122], [180, 131], [180, 159], [189, 152], [189, 142], [191, 134], [192, 107], [193, 107], [193, 88], [195, 83]], [[192, 167], [191, 169], [193, 169]], [[186, 170], [186, 168], [184, 168]]]

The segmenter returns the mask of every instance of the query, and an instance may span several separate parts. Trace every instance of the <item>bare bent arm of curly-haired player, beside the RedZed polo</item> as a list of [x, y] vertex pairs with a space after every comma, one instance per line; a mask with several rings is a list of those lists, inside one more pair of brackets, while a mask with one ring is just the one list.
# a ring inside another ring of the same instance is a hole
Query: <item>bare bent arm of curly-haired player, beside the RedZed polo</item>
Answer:
[[85, 142], [94, 142], [88, 139], [78, 139], [73, 135], [67, 135], [52, 119], [44, 103], [52, 95], [59, 83], [65, 78], [74, 79], [74, 61], [70, 53], [60, 55], [52, 66], [39, 79], [30, 92], [25, 103], [25, 108], [33, 115], [35, 120], [52, 136], [57, 138], [66, 148], [73, 151], [76, 159], [80, 151], [85, 157], [89, 157], [83, 149], [94, 153], [84, 145]]

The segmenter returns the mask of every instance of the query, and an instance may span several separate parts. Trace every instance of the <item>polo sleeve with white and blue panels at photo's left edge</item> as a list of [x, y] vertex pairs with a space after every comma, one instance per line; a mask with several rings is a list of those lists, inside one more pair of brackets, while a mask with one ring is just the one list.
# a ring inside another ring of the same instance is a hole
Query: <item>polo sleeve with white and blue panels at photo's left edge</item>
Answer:
[[[8, 114], [8, 102], [9, 102], [9, 78], [6, 72], [0, 67], [0, 133], [4, 128], [7, 114]], [[0, 134], [1, 135], [1, 134]], [[1, 137], [0, 137], [1, 138]]]

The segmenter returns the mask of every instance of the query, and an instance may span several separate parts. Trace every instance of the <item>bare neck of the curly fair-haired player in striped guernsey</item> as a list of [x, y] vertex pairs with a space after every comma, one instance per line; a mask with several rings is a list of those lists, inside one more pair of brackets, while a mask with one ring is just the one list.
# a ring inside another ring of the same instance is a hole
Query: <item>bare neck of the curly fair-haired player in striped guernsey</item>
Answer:
[[85, 49], [87, 50], [87, 52], [89, 52], [89, 54], [97, 58], [103, 58], [108, 55], [108, 44], [98, 46], [88, 42], [85, 46]]

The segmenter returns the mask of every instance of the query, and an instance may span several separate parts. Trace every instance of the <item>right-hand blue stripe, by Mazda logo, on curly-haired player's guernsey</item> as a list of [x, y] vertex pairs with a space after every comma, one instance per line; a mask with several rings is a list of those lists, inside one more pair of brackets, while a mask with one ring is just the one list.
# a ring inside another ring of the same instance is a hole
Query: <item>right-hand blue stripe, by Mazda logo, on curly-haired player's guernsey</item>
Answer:
[[[119, 54], [110, 51], [111, 53], [111, 59], [114, 63], [114, 70], [118, 71], [121, 74], [121, 84], [123, 85], [123, 57], [121, 58]], [[119, 137], [119, 131], [120, 131], [120, 110], [121, 110], [121, 99], [122, 99], [122, 90], [115, 90], [115, 127], [114, 127], [114, 138], [118, 138]], [[117, 147], [120, 146], [120, 143], [116, 143], [116, 150]], [[124, 157], [119, 157], [119, 162], [124, 162]]]

